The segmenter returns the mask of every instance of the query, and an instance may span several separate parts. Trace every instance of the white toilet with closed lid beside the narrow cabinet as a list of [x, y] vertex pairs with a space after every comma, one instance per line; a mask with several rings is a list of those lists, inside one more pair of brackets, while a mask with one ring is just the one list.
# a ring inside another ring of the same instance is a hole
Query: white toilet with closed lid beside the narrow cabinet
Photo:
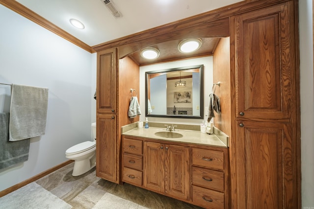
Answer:
[[65, 157], [74, 160], [72, 176], [79, 176], [96, 165], [96, 123], [92, 123], [93, 141], [84, 141], [65, 151]]

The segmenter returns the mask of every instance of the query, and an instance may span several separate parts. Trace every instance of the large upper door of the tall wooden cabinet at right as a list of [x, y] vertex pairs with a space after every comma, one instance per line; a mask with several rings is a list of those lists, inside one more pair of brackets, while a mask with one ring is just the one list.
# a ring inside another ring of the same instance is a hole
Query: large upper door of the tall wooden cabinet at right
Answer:
[[293, 2], [288, 2], [235, 17], [237, 117], [288, 118], [293, 114], [296, 55], [292, 9]]

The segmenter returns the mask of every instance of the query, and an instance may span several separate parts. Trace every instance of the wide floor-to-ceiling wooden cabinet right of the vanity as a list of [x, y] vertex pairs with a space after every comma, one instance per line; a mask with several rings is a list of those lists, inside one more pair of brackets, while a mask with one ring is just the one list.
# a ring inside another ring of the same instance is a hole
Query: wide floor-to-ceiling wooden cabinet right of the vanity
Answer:
[[294, 12], [287, 1], [231, 18], [232, 208], [299, 208]]

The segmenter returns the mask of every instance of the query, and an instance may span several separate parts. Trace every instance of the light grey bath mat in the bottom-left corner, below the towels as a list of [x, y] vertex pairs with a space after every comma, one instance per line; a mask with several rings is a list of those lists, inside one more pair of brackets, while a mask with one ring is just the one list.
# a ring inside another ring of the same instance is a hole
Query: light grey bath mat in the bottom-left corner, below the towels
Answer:
[[0, 197], [0, 209], [72, 209], [72, 206], [32, 182]]

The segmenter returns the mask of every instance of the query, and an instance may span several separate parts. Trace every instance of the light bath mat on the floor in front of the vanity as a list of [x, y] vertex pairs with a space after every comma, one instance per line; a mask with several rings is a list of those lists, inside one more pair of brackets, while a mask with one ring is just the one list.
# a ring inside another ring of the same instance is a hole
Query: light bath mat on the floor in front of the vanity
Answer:
[[116, 195], [105, 193], [93, 209], [148, 209]]

